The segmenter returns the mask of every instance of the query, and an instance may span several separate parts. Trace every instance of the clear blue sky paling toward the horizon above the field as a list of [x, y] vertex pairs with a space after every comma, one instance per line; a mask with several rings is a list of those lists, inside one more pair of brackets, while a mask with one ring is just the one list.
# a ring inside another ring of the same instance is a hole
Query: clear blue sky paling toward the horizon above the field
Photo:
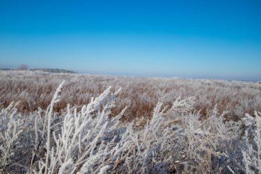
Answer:
[[261, 1], [0, 1], [0, 67], [261, 80]]

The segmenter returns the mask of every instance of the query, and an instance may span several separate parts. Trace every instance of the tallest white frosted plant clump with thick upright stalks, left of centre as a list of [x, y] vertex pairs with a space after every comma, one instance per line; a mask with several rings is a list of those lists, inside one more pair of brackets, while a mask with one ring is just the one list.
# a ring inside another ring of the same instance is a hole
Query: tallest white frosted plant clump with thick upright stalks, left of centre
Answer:
[[[68, 105], [63, 120], [54, 124], [52, 107], [55, 102], [58, 102], [58, 93], [62, 85], [56, 90], [49, 111], [45, 115], [47, 130], [42, 131], [43, 133], [47, 131], [46, 136], [42, 135], [47, 139], [44, 144], [45, 157], [42, 157], [38, 164], [34, 162], [33, 171], [34, 173], [105, 172], [111, 168], [106, 163], [116, 138], [110, 140], [109, 134], [117, 129], [116, 126], [125, 110], [109, 120], [115, 95], [120, 90], [109, 95], [111, 89], [109, 87], [98, 98], [91, 100], [87, 106], [84, 105], [80, 112], [77, 112], [76, 108], [70, 109]], [[44, 125], [45, 120], [42, 121]], [[37, 133], [36, 131], [36, 137], [39, 137]], [[36, 144], [37, 142], [36, 138]]]

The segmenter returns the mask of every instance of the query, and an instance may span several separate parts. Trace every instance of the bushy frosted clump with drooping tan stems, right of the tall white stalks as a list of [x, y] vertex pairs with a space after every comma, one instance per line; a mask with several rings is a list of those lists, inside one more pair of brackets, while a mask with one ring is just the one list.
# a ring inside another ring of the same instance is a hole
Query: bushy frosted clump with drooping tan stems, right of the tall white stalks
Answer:
[[[193, 103], [193, 98], [178, 98], [167, 109], [159, 102], [144, 129], [127, 127], [119, 143], [126, 150], [116, 160], [113, 173], [225, 173], [229, 155], [224, 150], [238, 138], [239, 123], [224, 124], [225, 113], [219, 116], [216, 109], [201, 122], [198, 113], [190, 113]], [[124, 146], [126, 142], [131, 145]], [[213, 161], [213, 156], [224, 162]]]

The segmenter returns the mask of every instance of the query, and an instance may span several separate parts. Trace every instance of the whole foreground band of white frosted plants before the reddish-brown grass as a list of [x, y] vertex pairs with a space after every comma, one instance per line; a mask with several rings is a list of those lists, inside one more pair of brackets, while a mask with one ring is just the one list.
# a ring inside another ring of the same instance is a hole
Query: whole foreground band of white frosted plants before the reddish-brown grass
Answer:
[[225, 121], [229, 112], [216, 105], [202, 119], [196, 96], [171, 103], [166, 96], [137, 128], [120, 121], [127, 108], [113, 110], [124, 89], [109, 87], [87, 105], [56, 112], [62, 87], [46, 110], [1, 109], [1, 173], [261, 173], [258, 111]]

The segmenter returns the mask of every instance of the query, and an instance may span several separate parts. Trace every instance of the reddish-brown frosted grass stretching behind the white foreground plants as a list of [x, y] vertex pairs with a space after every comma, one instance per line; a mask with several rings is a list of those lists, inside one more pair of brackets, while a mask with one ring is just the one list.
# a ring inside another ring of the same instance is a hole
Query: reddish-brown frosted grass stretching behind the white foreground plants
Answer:
[[67, 104], [82, 106], [91, 97], [98, 96], [109, 85], [122, 87], [116, 100], [119, 112], [125, 106], [128, 110], [124, 120], [150, 118], [158, 100], [165, 105], [178, 96], [194, 96], [194, 109], [203, 116], [215, 105], [220, 112], [230, 111], [228, 119], [238, 120], [245, 113], [261, 110], [261, 85], [259, 83], [228, 82], [223, 80], [189, 80], [181, 78], [133, 78], [115, 76], [94, 76], [82, 74], [52, 74], [29, 71], [0, 71], [0, 102], [7, 107], [10, 102], [19, 102], [20, 112], [46, 109], [58, 84], [66, 80], [60, 102], [54, 111], [63, 111]]

